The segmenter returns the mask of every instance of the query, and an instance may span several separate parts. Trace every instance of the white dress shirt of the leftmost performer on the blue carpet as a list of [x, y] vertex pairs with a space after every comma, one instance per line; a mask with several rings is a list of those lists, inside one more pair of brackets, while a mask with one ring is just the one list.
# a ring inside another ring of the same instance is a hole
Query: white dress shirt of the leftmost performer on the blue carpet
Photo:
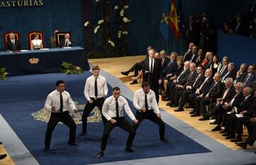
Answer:
[[[63, 96], [63, 112], [68, 110], [68, 107], [70, 107], [71, 110], [76, 109], [75, 103], [70, 97], [70, 93], [68, 91], [62, 92]], [[55, 106], [55, 110], [52, 110], [52, 106]], [[46, 110], [52, 111], [52, 113], [60, 113], [60, 92], [55, 90], [52, 91], [50, 94], [48, 94], [46, 98], [45, 107]]]

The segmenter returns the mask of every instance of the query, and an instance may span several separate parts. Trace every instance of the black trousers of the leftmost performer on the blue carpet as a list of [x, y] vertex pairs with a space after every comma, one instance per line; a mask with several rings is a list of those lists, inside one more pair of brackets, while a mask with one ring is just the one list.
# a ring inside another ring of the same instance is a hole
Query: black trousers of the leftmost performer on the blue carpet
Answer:
[[58, 122], [62, 122], [63, 124], [67, 125], [70, 128], [70, 134], [69, 134], [69, 141], [68, 143], [75, 143], [75, 130], [76, 125], [71, 118], [71, 116], [68, 114], [68, 111], [65, 111], [64, 113], [51, 113], [50, 120], [47, 125], [46, 130], [46, 146], [50, 146], [50, 139], [53, 133], [53, 130], [55, 126], [58, 124]]

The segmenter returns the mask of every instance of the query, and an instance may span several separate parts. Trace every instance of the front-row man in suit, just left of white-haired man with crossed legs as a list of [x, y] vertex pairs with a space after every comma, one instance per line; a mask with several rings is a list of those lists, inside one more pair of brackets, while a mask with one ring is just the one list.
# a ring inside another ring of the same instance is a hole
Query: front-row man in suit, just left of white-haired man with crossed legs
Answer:
[[[197, 96], [195, 98], [195, 107], [194, 111], [197, 114], [206, 113], [206, 106], [209, 103], [213, 103], [216, 101], [217, 98], [221, 96], [221, 93], [223, 92], [223, 84], [220, 81], [221, 75], [220, 73], [215, 73], [213, 76], [213, 84], [211, 84], [209, 90], [207, 93], [202, 93], [201, 95]], [[203, 117], [199, 120], [208, 120], [207, 118]]]

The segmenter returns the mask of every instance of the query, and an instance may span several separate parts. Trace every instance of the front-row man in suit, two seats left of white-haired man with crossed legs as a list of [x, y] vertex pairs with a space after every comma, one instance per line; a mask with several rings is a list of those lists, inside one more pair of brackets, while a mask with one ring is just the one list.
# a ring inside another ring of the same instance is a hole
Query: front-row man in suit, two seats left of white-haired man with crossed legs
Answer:
[[198, 96], [201, 96], [202, 94], [206, 94], [211, 86], [213, 84], [213, 78], [212, 78], [213, 70], [212, 69], [206, 69], [205, 77], [203, 83], [201, 86], [199, 86], [198, 89], [196, 89], [195, 93], [188, 94], [188, 103], [193, 108], [193, 110], [190, 112], [191, 117], [200, 116], [200, 113], [196, 111], [195, 109], [195, 99]]

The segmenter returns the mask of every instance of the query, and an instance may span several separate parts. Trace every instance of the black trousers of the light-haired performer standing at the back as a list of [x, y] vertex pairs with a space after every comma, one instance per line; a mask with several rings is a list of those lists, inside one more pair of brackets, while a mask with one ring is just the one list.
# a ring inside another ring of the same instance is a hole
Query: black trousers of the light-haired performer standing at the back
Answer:
[[107, 122], [106, 118], [102, 115], [102, 106], [105, 99], [104, 98], [97, 98], [97, 99], [91, 98], [91, 99], [93, 102], [89, 103], [89, 101], [87, 101], [85, 109], [82, 113], [82, 132], [87, 132], [87, 118], [96, 106], [97, 108], [100, 109], [103, 125], [105, 125], [105, 123]]

